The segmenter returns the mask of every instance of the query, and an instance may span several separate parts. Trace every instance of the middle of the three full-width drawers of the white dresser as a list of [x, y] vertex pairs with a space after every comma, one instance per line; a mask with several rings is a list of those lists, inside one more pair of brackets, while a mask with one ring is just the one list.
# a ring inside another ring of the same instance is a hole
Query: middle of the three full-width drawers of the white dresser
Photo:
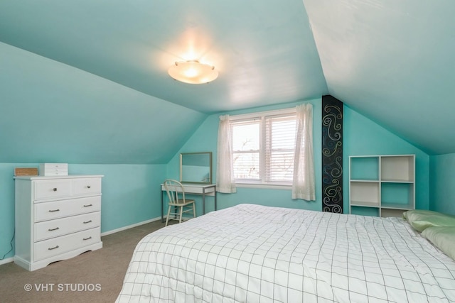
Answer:
[[68, 218], [43, 221], [34, 225], [35, 242], [100, 226], [100, 211]]

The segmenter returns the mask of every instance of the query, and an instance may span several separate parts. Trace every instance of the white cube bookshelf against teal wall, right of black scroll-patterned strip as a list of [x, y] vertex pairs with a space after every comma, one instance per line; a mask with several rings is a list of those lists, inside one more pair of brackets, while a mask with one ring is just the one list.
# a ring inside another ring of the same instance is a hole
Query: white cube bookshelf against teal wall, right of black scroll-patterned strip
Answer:
[[401, 216], [415, 208], [414, 180], [415, 155], [350, 156], [350, 214]]

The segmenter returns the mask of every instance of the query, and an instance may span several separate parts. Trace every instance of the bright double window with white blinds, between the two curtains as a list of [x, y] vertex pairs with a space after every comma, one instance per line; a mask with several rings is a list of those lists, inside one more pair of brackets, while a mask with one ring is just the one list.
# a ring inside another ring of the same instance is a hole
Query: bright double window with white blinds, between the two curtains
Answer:
[[296, 144], [296, 111], [232, 116], [236, 183], [291, 185]]

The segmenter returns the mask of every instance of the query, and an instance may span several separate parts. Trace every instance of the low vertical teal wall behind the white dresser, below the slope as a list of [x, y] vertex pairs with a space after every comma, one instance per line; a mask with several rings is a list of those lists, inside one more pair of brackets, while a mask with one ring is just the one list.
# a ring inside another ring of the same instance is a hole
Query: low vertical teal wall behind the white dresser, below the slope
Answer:
[[[14, 233], [14, 167], [36, 163], [0, 163], [0, 258], [10, 249]], [[166, 165], [76, 165], [71, 175], [105, 175], [102, 178], [101, 231], [137, 224], [161, 216], [159, 184]], [[14, 250], [6, 258], [14, 256]]]

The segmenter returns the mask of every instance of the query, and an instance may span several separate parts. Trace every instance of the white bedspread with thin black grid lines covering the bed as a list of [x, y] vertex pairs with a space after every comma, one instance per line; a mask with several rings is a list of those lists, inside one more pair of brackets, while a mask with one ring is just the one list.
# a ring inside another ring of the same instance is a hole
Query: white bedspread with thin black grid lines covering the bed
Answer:
[[402, 218], [240, 204], [145, 236], [117, 302], [455, 302], [455, 261]]

